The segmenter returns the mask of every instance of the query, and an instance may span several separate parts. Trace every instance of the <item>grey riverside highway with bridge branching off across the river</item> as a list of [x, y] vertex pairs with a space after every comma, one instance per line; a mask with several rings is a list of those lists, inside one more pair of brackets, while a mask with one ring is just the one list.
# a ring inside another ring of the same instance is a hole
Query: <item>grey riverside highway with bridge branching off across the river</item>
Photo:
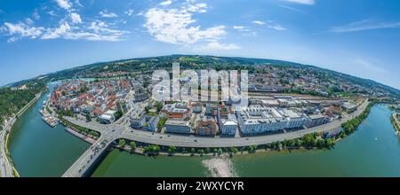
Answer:
[[292, 131], [281, 134], [266, 135], [266, 136], [246, 136], [246, 137], [204, 137], [204, 136], [178, 136], [161, 133], [153, 133], [140, 129], [132, 129], [129, 127], [129, 114], [125, 114], [119, 121], [113, 124], [102, 125], [97, 122], [86, 122], [84, 120], [78, 120], [74, 118], [66, 119], [76, 125], [82, 126], [87, 129], [93, 129], [99, 131], [101, 136], [100, 139], [92, 145], [92, 147], [84, 152], [84, 154], [76, 160], [76, 162], [68, 169], [63, 175], [64, 177], [80, 177], [88, 174], [93, 164], [100, 160], [100, 157], [104, 154], [109, 145], [116, 139], [124, 138], [132, 141], [143, 142], [148, 144], [159, 144], [166, 146], [179, 146], [179, 147], [195, 147], [195, 148], [206, 148], [206, 147], [241, 147], [249, 145], [259, 144], [271, 144], [277, 141], [284, 141], [294, 138], [300, 138], [307, 134], [328, 132], [334, 129], [340, 128], [343, 122], [349, 121], [364, 112], [364, 109], [368, 105], [365, 101], [362, 105], [359, 105], [356, 112], [351, 113], [346, 118], [340, 121], [332, 121], [323, 126], [301, 129], [298, 131]]

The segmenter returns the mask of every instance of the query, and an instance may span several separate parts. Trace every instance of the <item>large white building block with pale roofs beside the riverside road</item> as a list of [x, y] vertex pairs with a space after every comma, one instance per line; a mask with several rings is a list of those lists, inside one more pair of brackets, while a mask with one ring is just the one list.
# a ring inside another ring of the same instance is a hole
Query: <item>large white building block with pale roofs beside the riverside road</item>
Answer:
[[266, 108], [261, 105], [244, 107], [236, 115], [240, 131], [244, 135], [284, 130], [288, 122], [275, 108]]

